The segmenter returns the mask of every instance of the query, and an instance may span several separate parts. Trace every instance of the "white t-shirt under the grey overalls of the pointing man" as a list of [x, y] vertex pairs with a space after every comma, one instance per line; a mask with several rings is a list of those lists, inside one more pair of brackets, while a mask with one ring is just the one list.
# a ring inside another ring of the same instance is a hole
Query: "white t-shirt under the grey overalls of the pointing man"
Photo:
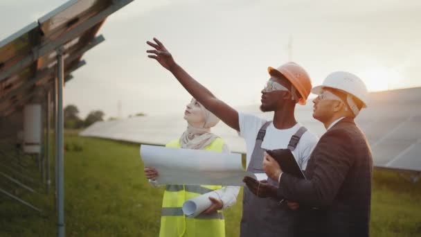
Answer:
[[[251, 114], [238, 113], [238, 123], [240, 123], [240, 137], [246, 140], [247, 146], [247, 167], [250, 164], [251, 154], [253, 153], [254, 146], [256, 144], [256, 138], [262, 125], [267, 120], [261, 119], [258, 116]], [[287, 149], [291, 137], [300, 129], [303, 125], [297, 123], [294, 127], [279, 130], [275, 128], [274, 123], [270, 123], [266, 129], [265, 138], [262, 141], [262, 148], [267, 150], [274, 149]], [[307, 130], [301, 137], [296, 149], [292, 152], [298, 166], [301, 170], [305, 170], [307, 167], [307, 161], [310, 159], [310, 155], [316, 143], [319, 141], [319, 137], [316, 134]]]

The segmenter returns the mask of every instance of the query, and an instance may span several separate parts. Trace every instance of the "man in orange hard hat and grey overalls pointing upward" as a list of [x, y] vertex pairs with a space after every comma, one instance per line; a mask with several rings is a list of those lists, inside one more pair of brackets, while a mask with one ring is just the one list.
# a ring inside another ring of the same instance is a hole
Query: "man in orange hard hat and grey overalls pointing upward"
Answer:
[[[216, 98], [211, 91], [193, 79], [172, 58], [159, 40], [147, 42], [149, 58], [157, 60], [179, 80], [181, 85], [201, 105], [237, 130], [247, 145], [247, 170], [260, 180], [278, 185], [277, 179], [265, 176], [262, 161], [265, 150], [289, 149], [301, 169], [305, 170], [310, 154], [318, 138], [297, 123], [294, 111], [296, 104], [305, 105], [312, 84], [307, 72], [298, 64], [288, 62], [274, 69], [268, 68], [269, 80], [262, 89], [260, 109], [274, 112], [273, 121], [266, 121], [251, 114], [237, 112], [233, 107]], [[286, 203], [261, 199], [244, 188], [243, 213], [240, 236], [296, 236], [298, 213]]]

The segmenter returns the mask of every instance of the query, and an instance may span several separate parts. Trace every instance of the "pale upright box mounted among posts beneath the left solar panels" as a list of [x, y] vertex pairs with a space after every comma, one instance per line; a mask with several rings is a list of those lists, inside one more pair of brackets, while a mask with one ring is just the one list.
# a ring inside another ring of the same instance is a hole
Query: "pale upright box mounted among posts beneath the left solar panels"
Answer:
[[24, 107], [24, 152], [40, 153], [42, 136], [41, 105]]

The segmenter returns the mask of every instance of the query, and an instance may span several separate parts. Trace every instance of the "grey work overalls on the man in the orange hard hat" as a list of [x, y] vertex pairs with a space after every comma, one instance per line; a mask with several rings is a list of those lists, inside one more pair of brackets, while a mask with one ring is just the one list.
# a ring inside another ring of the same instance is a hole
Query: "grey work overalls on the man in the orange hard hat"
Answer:
[[[262, 168], [263, 152], [265, 150], [261, 146], [265, 138], [267, 126], [270, 123], [271, 121], [266, 122], [258, 132], [256, 145], [254, 146], [247, 171], [265, 173]], [[298, 141], [300, 141], [306, 131], [306, 128], [301, 127], [291, 137], [288, 145], [289, 150], [295, 150]], [[268, 182], [278, 186], [278, 180], [275, 181], [268, 177]], [[296, 236], [298, 211], [289, 209], [285, 202], [280, 203], [278, 200], [271, 198], [258, 198], [251, 193], [247, 186], [244, 186], [242, 204], [241, 237]]]

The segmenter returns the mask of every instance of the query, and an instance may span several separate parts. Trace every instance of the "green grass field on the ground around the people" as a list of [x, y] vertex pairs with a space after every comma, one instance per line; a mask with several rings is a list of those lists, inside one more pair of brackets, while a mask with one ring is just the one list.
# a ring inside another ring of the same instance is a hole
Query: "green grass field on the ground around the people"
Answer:
[[[139, 146], [77, 137], [65, 138], [66, 236], [157, 236], [163, 190], [143, 175]], [[82, 149], [82, 150], [80, 150]], [[53, 195], [37, 203], [39, 215], [0, 199], [0, 236], [55, 236]], [[226, 216], [226, 235], [238, 236], [241, 193]], [[421, 236], [421, 182], [376, 170], [371, 236]]]

